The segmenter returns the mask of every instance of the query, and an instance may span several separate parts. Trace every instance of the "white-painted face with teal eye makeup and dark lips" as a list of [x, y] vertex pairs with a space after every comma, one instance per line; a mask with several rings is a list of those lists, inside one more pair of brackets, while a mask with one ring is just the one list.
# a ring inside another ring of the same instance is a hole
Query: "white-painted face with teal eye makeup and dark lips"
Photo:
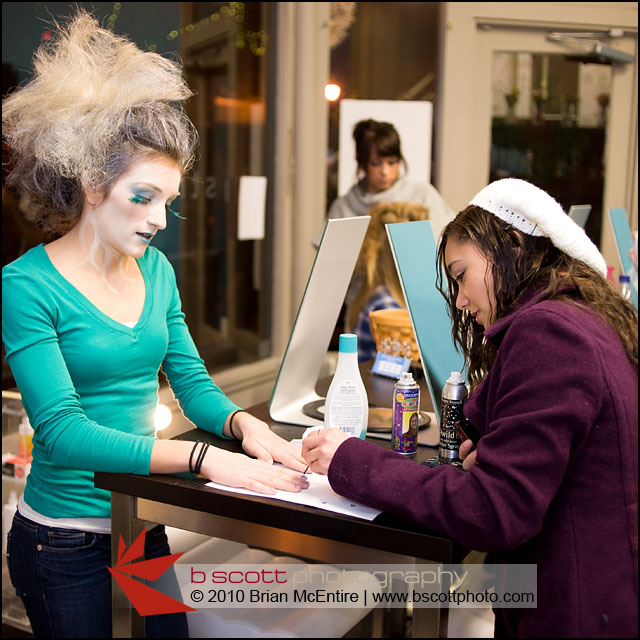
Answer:
[[167, 226], [167, 208], [179, 195], [181, 173], [169, 159], [134, 162], [109, 195], [91, 207], [94, 242], [112, 257], [142, 257]]

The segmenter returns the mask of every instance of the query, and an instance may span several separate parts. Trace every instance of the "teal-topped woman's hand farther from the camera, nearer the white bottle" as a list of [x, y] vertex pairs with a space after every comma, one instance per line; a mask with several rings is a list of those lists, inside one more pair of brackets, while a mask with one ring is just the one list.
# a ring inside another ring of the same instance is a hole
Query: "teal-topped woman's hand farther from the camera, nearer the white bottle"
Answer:
[[307, 464], [300, 449], [275, 434], [269, 425], [246, 411], [237, 413], [233, 419], [233, 432], [241, 434], [242, 448], [250, 456], [265, 462], [281, 462], [296, 471], [304, 471]]

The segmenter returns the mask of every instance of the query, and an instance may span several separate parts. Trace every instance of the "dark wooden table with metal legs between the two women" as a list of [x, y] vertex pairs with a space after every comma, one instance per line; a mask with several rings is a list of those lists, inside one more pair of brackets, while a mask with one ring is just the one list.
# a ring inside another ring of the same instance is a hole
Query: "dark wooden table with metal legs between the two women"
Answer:
[[[393, 381], [368, 375], [366, 371], [363, 379], [370, 402], [390, 406]], [[319, 384], [319, 393], [328, 382]], [[425, 395], [428, 399], [428, 394]], [[430, 402], [423, 401], [422, 409], [429, 407]], [[299, 438], [304, 430], [273, 423], [266, 402], [248, 410], [287, 440]], [[177, 439], [206, 440], [230, 451], [241, 451], [237, 441], [221, 440], [200, 429], [185, 432]], [[372, 441], [390, 447], [390, 442]], [[436, 453], [437, 449], [419, 447], [416, 461]], [[143, 521], [329, 564], [451, 563], [465, 555], [465, 550], [447, 536], [389, 514], [382, 513], [370, 522], [266, 497], [213, 489], [205, 487], [206, 482], [191, 474], [140, 476], [97, 472], [96, 487], [112, 492], [112, 530], [116, 534], [112, 537], [113, 566], [117, 558], [117, 534], [122, 535], [128, 547], [142, 530]], [[115, 582], [113, 612], [114, 637], [144, 635], [143, 618], [131, 608]], [[413, 637], [446, 637], [447, 609], [414, 608], [413, 616]]]

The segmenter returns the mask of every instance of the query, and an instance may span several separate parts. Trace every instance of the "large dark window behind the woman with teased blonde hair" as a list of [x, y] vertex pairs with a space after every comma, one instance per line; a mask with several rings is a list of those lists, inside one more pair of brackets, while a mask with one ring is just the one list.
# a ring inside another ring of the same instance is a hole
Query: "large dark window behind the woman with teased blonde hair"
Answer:
[[[220, 371], [270, 355], [270, 228], [236, 239], [240, 176], [269, 175], [267, 88], [274, 3], [78, 3], [143, 50], [179, 55], [196, 95], [187, 111], [200, 134], [198, 160], [154, 245], [173, 264], [187, 324], [207, 367]], [[33, 52], [67, 3], [3, 4], [3, 95], [30, 77]], [[273, 65], [272, 65], [273, 66]], [[5, 161], [3, 147], [3, 166]], [[50, 239], [3, 186], [3, 265]], [[3, 359], [3, 388], [14, 386]]]

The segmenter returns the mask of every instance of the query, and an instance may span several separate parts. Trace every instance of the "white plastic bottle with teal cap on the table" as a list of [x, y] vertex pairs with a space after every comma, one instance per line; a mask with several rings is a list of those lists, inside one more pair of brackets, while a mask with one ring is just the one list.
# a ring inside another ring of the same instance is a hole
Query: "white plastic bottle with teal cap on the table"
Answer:
[[345, 433], [367, 436], [369, 401], [358, 367], [358, 336], [340, 335], [338, 365], [327, 392], [324, 406], [324, 426], [338, 427]]

